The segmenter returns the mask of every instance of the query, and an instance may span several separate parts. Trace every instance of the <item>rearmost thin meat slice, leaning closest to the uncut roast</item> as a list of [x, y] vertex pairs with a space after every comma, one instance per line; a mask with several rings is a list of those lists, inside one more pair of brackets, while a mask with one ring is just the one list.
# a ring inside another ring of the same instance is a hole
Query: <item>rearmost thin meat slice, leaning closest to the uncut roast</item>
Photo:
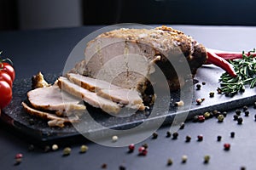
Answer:
[[84, 77], [79, 74], [68, 73], [67, 78], [70, 82], [78, 84], [80, 87], [90, 90], [91, 92], [97, 92], [100, 89], [118, 89], [118, 86], [111, 84], [110, 82], [98, 80], [91, 77]]

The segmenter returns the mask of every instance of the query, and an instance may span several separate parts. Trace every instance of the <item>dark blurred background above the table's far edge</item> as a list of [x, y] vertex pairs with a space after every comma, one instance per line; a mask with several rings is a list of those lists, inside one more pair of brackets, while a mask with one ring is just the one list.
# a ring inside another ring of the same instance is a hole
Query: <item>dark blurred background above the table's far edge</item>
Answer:
[[256, 26], [255, 4], [255, 0], [0, 0], [0, 30], [125, 22]]

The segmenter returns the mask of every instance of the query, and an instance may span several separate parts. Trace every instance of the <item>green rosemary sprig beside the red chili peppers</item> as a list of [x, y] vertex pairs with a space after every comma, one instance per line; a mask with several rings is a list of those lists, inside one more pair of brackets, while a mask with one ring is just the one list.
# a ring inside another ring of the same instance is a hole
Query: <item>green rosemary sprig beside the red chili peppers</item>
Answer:
[[227, 72], [222, 74], [219, 79], [218, 93], [234, 96], [238, 92], [244, 92], [246, 86], [250, 88], [256, 86], [256, 59], [251, 53], [255, 53], [255, 48], [248, 54], [243, 51], [242, 59], [229, 60], [230, 64], [234, 66], [237, 77], [231, 77]]

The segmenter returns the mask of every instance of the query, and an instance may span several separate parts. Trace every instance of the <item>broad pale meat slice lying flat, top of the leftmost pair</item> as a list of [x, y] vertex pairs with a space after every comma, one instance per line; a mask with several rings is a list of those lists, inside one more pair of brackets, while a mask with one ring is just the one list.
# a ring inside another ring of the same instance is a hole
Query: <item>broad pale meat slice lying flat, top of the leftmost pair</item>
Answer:
[[79, 104], [81, 99], [61, 92], [57, 85], [46, 88], [36, 88], [27, 93], [31, 105], [38, 110], [55, 111], [56, 115], [63, 116], [69, 111], [84, 111], [86, 107]]

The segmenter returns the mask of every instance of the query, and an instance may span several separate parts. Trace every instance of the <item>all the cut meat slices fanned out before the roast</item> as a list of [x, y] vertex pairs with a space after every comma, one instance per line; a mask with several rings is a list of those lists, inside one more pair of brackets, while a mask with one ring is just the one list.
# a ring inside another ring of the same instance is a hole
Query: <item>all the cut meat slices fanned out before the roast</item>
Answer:
[[59, 77], [52, 86], [32, 89], [27, 93], [27, 98], [31, 106], [23, 102], [25, 110], [49, 120], [51, 127], [64, 127], [64, 123], [78, 122], [81, 113], [86, 113], [81, 101], [114, 114], [118, 114], [122, 107], [145, 109], [143, 99], [135, 90], [72, 73], [67, 74], [67, 77]]

